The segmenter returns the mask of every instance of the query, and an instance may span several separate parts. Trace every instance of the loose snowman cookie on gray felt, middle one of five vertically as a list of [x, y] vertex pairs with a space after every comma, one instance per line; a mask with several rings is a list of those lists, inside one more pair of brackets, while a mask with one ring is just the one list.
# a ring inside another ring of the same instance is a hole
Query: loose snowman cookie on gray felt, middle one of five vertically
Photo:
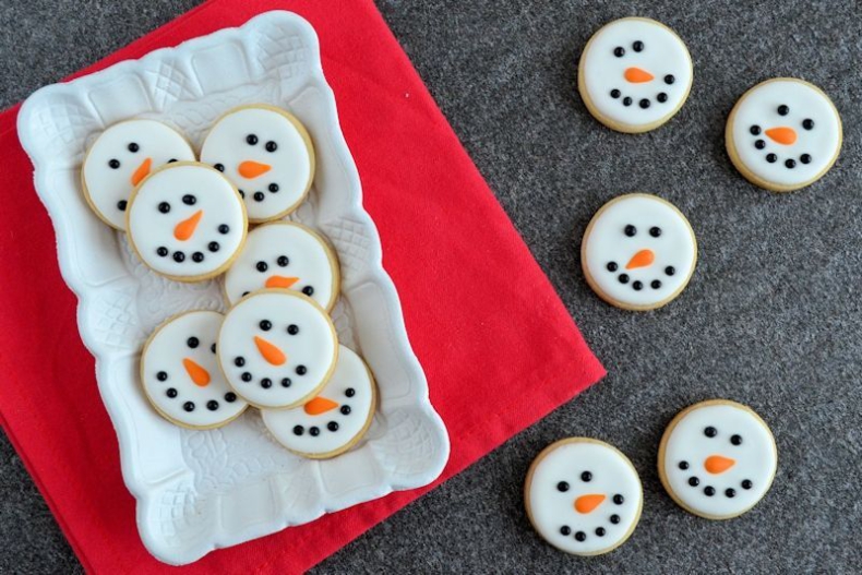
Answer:
[[601, 299], [630, 310], [659, 308], [689, 284], [697, 242], [672, 204], [647, 194], [615, 197], [592, 217], [580, 247], [584, 275]]

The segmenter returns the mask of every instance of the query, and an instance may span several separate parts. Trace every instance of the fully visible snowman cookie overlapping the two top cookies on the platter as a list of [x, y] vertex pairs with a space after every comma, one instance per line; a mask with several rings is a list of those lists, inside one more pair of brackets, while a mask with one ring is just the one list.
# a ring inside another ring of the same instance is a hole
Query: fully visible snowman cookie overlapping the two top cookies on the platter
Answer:
[[153, 271], [179, 281], [224, 272], [246, 240], [246, 208], [224, 176], [203, 164], [169, 164], [130, 200], [127, 229]]

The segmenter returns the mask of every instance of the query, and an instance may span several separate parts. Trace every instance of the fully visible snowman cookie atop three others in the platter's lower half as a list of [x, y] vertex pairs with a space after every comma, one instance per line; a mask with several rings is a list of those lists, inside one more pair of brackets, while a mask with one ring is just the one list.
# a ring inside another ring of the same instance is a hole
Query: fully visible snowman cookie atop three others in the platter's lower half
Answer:
[[228, 383], [260, 408], [303, 405], [330, 380], [337, 358], [326, 311], [289, 289], [246, 296], [228, 311], [218, 336]]

